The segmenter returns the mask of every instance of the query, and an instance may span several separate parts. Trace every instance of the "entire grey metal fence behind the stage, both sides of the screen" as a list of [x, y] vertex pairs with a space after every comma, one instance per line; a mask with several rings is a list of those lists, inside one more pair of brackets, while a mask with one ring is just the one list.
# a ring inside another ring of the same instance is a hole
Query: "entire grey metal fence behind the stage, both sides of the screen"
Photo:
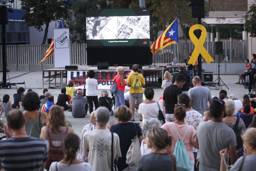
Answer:
[[[205, 42], [205, 49], [215, 59], [214, 42]], [[44, 58], [49, 44], [22, 44], [22, 45], [6, 45], [6, 58], [8, 69], [12, 71], [40, 71], [54, 67], [54, 54], [43, 62], [39, 62]], [[189, 52], [195, 48], [192, 42], [188, 42]], [[2, 65], [2, 45], [0, 45], [0, 64]], [[168, 47], [156, 52], [153, 62], [156, 63], [181, 63], [188, 58], [185, 42], [172, 44]], [[223, 55], [221, 55], [221, 63], [243, 63], [248, 58], [248, 41], [223, 42]], [[70, 44], [70, 64], [86, 65], [87, 54], [86, 44]], [[214, 63], [214, 62], [213, 62]]]

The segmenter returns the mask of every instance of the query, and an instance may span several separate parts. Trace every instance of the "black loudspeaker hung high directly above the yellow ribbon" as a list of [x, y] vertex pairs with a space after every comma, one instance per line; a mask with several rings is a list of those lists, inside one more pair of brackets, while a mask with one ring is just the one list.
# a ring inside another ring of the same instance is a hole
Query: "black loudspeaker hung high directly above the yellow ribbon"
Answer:
[[192, 18], [205, 18], [205, 0], [191, 0]]

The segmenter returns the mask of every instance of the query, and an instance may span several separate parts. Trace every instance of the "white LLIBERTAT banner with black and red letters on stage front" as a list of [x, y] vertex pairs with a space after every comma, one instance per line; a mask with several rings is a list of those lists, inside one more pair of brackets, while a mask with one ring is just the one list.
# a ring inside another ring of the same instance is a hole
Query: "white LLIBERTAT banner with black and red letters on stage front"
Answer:
[[[88, 71], [68, 71], [67, 82], [72, 82], [74, 84], [74, 88], [78, 89], [84, 88], [85, 79], [87, 78]], [[126, 81], [129, 74], [133, 73], [132, 70], [124, 70], [124, 79]], [[111, 70], [95, 70], [95, 79], [98, 81], [98, 89], [109, 89], [114, 81], [114, 77], [116, 75], [116, 71]], [[85, 85], [86, 88], [86, 85]], [[125, 89], [129, 89], [129, 87], [125, 86]]]

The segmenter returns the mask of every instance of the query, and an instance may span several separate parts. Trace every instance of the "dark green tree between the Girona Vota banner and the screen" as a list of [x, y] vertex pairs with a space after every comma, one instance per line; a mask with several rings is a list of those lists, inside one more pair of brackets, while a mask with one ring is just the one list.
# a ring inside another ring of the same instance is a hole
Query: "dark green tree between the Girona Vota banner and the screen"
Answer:
[[71, 42], [86, 43], [86, 9], [109, 8], [106, 0], [77, 0], [72, 3], [63, 26], [69, 28]]

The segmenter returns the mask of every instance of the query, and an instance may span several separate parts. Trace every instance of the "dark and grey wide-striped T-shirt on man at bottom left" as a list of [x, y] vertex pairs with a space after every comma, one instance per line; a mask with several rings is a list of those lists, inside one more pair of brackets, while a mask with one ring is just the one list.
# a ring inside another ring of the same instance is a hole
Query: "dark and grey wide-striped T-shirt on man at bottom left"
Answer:
[[31, 136], [0, 141], [0, 160], [3, 171], [39, 171], [48, 160], [46, 142]]

